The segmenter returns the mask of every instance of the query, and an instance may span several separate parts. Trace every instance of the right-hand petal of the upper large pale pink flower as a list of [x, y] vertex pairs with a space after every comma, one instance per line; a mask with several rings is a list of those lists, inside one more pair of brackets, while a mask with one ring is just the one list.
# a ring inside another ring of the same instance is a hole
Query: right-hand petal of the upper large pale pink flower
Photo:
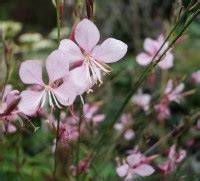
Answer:
[[95, 47], [92, 56], [98, 61], [112, 63], [120, 60], [127, 52], [128, 46], [120, 40], [108, 38]]

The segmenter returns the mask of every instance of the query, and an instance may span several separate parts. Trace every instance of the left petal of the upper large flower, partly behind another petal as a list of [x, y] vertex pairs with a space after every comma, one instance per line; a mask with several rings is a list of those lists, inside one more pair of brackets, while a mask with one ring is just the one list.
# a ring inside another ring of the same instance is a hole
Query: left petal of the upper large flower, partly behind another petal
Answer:
[[67, 54], [66, 58], [68, 58], [69, 63], [73, 63], [74, 61], [79, 61], [84, 59], [84, 56], [80, 48], [72, 40], [69, 39], [62, 40], [60, 42], [58, 49]]

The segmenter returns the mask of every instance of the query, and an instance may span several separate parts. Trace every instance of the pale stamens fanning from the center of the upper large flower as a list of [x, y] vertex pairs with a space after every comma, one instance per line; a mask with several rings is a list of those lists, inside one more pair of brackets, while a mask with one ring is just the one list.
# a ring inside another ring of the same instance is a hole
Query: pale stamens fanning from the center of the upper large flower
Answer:
[[92, 78], [97, 79], [100, 85], [103, 83], [100, 70], [102, 70], [106, 74], [109, 74], [112, 71], [112, 68], [110, 66], [103, 62], [95, 60], [89, 54], [85, 55], [84, 64], [86, 65], [86, 78], [88, 79], [90, 85], [92, 84]]

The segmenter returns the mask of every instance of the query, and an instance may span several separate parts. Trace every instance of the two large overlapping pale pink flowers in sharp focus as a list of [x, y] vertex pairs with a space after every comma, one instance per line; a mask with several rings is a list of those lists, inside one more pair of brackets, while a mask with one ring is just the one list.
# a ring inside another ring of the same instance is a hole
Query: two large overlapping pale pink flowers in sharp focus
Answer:
[[[42, 65], [38, 60], [27, 60], [19, 69], [21, 81], [29, 87], [21, 92], [19, 111], [35, 114], [48, 103], [51, 108], [73, 104], [76, 96], [91, 90], [94, 84], [103, 83], [102, 72], [110, 73], [107, 63], [121, 59], [127, 45], [120, 40], [108, 38], [98, 44], [100, 33], [88, 19], [79, 22], [74, 31], [75, 41], [64, 39], [57, 50], [46, 59], [48, 83], [42, 79]], [[71, 65], [78, 67], [71, 69]]]

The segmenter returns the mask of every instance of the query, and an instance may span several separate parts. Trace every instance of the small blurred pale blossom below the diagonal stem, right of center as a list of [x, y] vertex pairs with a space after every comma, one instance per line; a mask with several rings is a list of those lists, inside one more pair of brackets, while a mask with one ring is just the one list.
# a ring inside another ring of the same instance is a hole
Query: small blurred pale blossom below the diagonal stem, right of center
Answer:
[[137, 94], [132, 97], [132, 102], [143, 108], [144, 111], [149, 110], [150, 101], [151, 101], [151, 95], [142, 93], [141, 90], [139, 90]]

